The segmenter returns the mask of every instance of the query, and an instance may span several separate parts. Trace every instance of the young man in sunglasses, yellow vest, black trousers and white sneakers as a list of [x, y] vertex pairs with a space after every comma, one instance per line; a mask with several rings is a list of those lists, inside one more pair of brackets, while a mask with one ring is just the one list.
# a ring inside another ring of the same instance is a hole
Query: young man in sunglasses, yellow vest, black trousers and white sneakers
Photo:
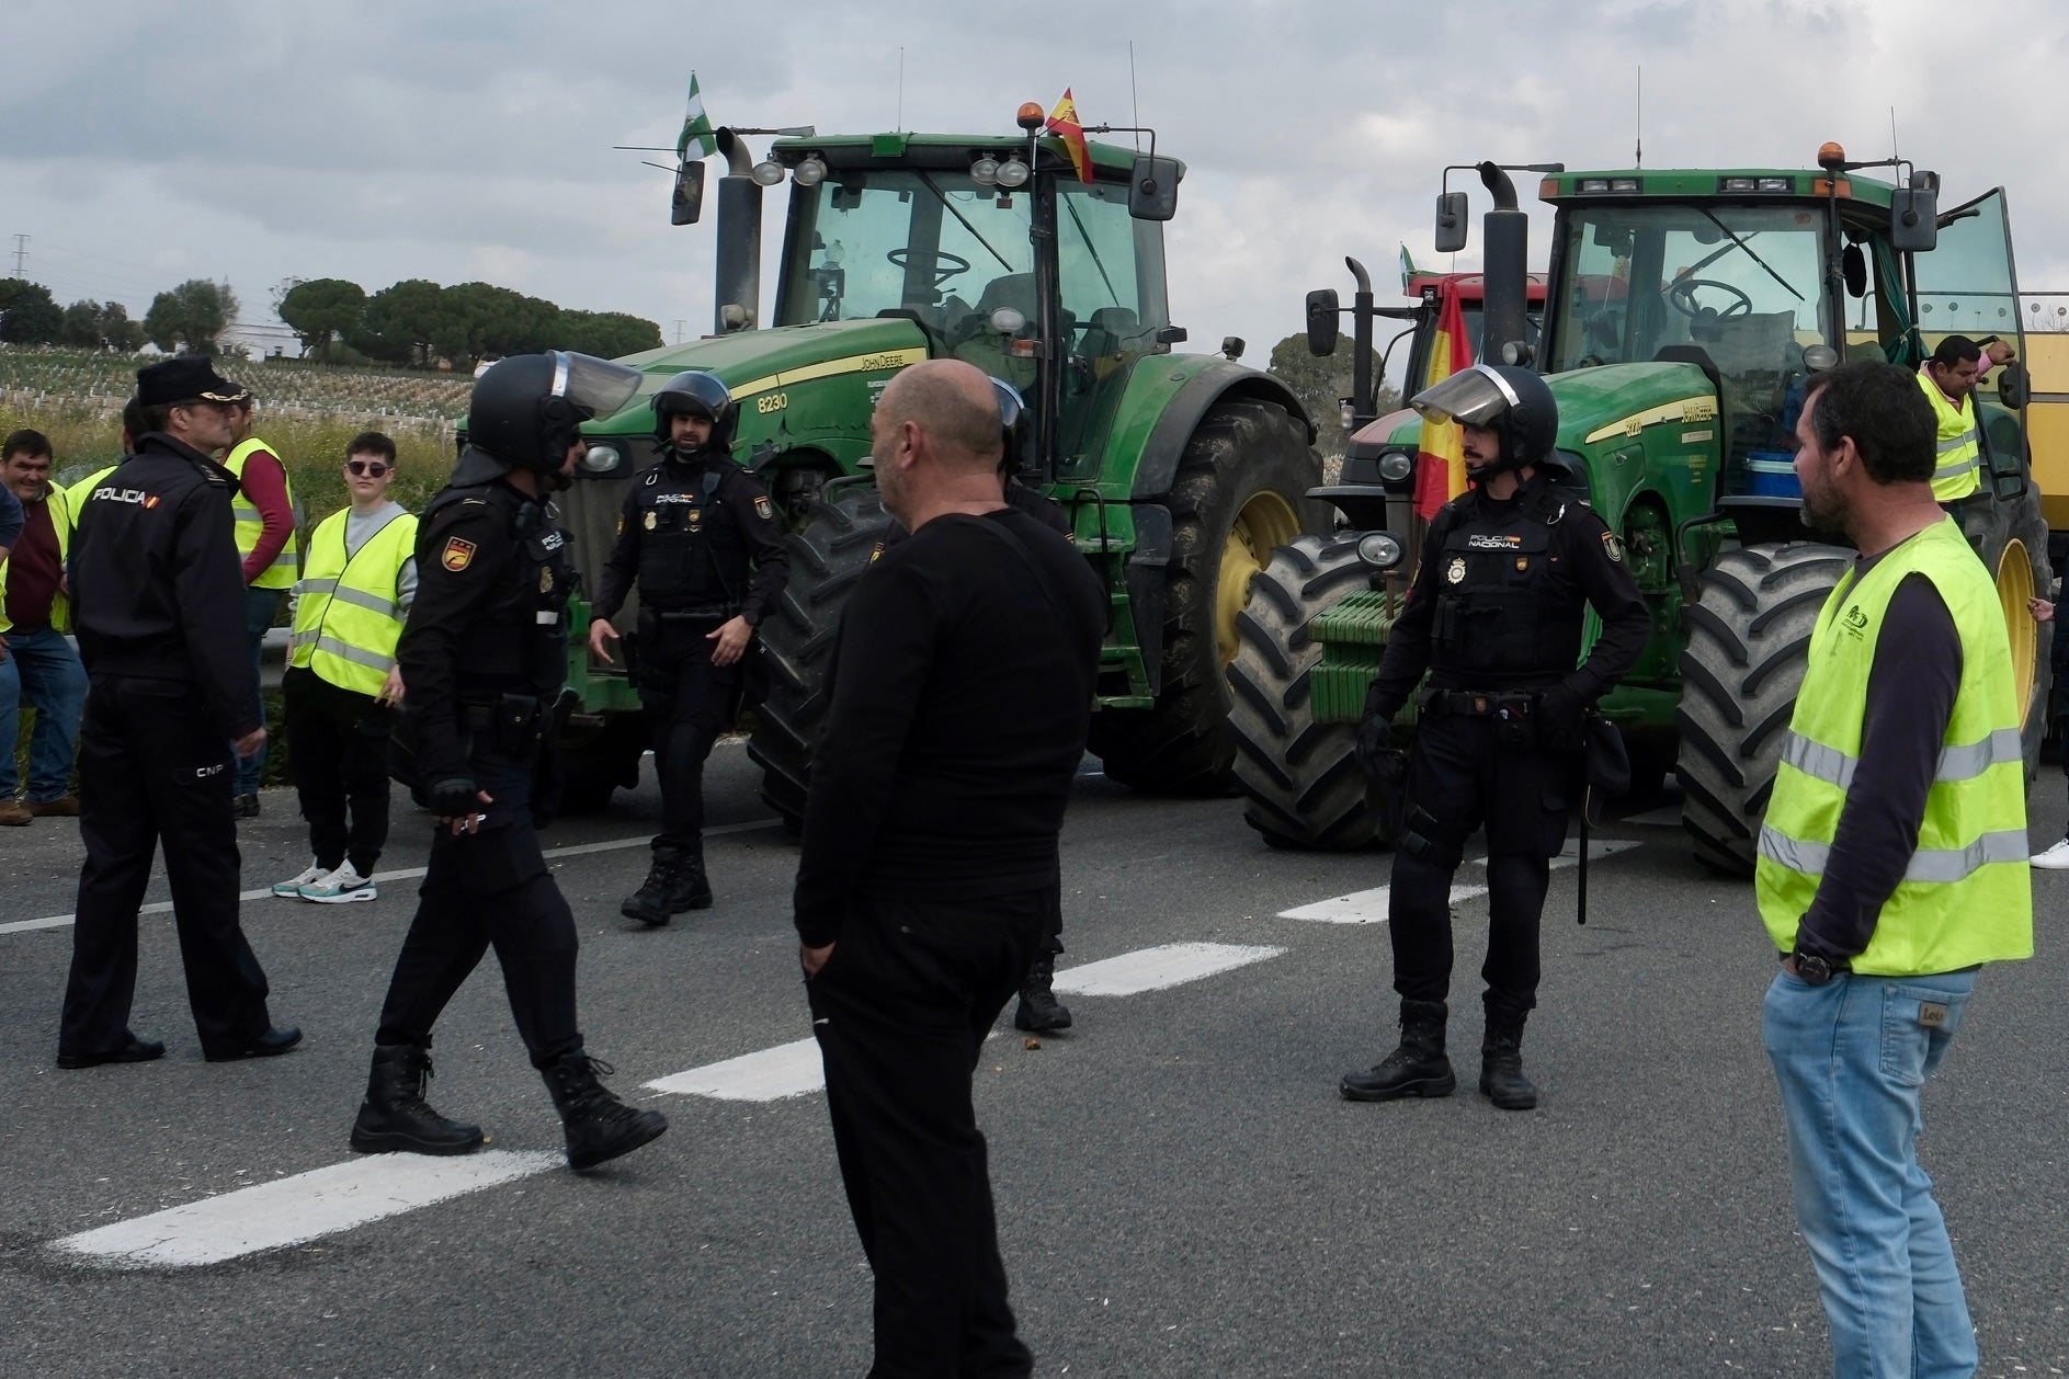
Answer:
[[352, 507], [308, 533], [279, 691], [310, 860], [275, 883], [275, 895], [325, 906], [374, 899], [389, 823], [387, 742], [401, 703], [395, 641], [416, 597], [416, 517], [389, 500], [393, 482], [395, 442], [360, 432], [346, 447]]

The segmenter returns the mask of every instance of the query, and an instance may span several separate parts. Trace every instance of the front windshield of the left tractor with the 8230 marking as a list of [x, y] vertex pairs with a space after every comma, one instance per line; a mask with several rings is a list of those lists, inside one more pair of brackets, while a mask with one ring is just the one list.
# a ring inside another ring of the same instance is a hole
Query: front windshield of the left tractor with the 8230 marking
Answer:
[[943, 349], [1034, 320], [1032, 196], [921, 170], [836, 170], [790, 207], [776, 323], [906, 316]]

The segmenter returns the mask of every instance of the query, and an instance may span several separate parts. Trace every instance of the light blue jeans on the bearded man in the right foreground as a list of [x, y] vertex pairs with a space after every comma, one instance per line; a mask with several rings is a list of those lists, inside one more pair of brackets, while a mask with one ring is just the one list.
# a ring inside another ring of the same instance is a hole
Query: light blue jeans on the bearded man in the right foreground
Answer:
[[1976, 1373], [1961, 1274], [1918, 1166], [1918, 1092], [1974, 990], [1974, 970], [1825, 986], [1779, 972], [1767, 988], [1761, 1038], [1839, 1379]]

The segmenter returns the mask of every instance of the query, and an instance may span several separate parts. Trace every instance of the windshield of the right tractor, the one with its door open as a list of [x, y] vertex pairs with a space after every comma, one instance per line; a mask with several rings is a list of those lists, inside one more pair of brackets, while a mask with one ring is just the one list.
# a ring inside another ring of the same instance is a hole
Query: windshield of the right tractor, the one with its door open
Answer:
[[1827, 246], [1815, 207], [1568, 209], [1548, 368], [1703, 364], [1717, 374], [1734, 451], [1783, 449], [1804, 345], [1831, 339]]

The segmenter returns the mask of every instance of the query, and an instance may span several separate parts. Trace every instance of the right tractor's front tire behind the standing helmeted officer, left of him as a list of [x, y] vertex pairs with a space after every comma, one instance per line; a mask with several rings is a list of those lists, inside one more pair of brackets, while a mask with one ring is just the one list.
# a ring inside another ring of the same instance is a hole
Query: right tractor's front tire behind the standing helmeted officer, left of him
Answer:
[[1388, 844], [1357, 769], [1357, 724], [1314, 717], [1310, 674], [1322, 643], [1308, 624], [1347, 593], [1372, 587], [1357, 538], [1303, 535], [1272, 552], [1250, 581], [1229, 662], [1229, 734], [1243, 821], [1272, 848], [1349, 852]]

